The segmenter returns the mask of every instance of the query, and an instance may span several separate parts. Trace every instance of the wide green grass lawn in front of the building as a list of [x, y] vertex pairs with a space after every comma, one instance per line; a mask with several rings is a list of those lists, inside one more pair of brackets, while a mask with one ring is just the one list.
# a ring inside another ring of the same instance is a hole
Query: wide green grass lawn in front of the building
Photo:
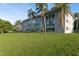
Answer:
[[0, 34], [0, 55], [79, 55], [79, 33]]

